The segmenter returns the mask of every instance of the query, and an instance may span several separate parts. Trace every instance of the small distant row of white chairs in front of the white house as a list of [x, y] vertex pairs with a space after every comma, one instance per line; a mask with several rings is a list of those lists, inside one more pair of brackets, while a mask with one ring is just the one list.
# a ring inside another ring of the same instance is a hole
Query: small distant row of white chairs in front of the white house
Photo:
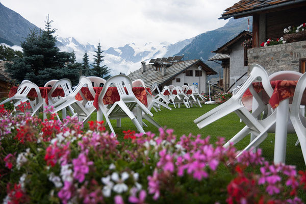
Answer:
[[202, 107], [200, 100], [207, 99], [199, 93], [197, 85], [164, 86], [161, 93], [164, 94], [166, 91], [170, 93], [166, 97], [169, 101], [172, 101], [174, 108], [176, 106], [180, 108], [181, 104], [184, 104], [186, 108], [190, 108], [193, 105]]

